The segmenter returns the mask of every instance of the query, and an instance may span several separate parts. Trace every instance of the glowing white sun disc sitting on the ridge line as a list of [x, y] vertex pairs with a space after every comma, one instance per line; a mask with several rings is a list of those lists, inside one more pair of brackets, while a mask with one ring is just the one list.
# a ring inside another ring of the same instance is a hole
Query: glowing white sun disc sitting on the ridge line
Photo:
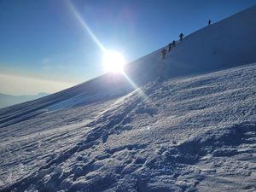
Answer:
[[125, 66], [125, 58], [115, 50], [106, 50], [103, 56], [103, 66], [107, 72], [122, 73]]

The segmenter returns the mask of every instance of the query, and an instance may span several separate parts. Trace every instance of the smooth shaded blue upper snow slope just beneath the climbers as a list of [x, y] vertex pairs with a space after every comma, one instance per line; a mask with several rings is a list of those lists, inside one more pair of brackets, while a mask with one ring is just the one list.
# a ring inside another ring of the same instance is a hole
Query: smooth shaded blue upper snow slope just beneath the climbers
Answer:
[[185, 36], [164, 61], [159, 49], [134, 61], [132, 64], [137, 67], [130, 67], [137, 72], [135, 76], [149, 73], [150, 79], [152, 73], [164, 72], [170, 78], [253, 63], [256, 61], [255, 18], [256, 6]]

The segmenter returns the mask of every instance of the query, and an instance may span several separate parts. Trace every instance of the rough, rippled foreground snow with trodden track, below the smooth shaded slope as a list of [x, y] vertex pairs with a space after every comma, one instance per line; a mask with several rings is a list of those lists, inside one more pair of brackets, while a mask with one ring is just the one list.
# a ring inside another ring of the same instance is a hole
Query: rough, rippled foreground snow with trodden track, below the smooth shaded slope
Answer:
[[255, 191], [255, 80], [253, 64], [153, 82], [3, 127], [2, 189]]

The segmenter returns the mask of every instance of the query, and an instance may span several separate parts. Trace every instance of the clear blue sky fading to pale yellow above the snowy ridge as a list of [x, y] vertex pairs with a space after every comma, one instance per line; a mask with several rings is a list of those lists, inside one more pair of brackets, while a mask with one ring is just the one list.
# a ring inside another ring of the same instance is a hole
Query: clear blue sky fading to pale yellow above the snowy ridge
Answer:
[[[55, 92], [104, 73], [101, 44], [127, 62], [256, 0], [0, 0], [0, 92]], [[96, 43], [97, 41], [97, 43]]]

